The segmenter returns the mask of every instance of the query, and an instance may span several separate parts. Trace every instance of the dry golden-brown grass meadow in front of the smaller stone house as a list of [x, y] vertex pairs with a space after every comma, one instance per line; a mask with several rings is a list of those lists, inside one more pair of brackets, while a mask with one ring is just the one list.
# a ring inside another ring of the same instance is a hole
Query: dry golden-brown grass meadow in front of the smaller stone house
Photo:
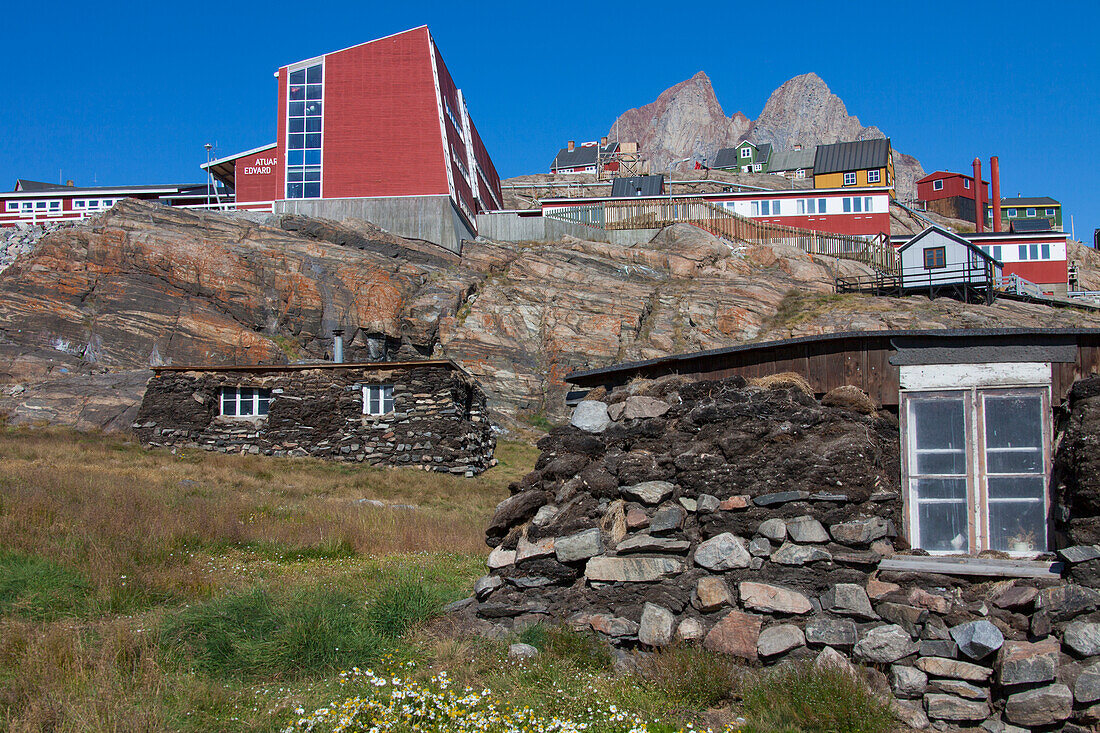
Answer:
[[[25, 591], [0, 593], [0, 731], [278, 730], [314, 682], [292, 698], [197, 671], [157, 643], [164, 620], [257, 587], [370, 601], [403, 579], [457, 598], [536, 455], [504, 444], [464, 479], [0, 428], [0, 590], [7, 572]], [[68, 608], [35, 608], [51, 583], [75, 593]]]

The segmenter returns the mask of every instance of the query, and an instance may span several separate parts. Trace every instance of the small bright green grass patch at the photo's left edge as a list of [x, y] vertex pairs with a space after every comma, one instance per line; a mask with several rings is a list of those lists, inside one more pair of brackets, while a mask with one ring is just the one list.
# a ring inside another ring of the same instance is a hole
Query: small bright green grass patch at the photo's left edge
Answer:
[[88, 608], [91, 587], [52, 560], [0, 550], [0, 614], [34, 621], [78, 615]]

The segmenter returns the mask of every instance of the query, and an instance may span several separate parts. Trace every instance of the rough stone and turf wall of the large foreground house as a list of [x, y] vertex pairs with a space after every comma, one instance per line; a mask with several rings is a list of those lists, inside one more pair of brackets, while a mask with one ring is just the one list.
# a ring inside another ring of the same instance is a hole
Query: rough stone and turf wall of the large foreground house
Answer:
[[[899, 532], [897, 418], [855, 387], [817, 402], [782, 380], [668, 378], [582, 403], [539, 447], [487, 529], [471, 606], [485, 621], [550, 620], [644, 650], [697, 643], [750, 664], [855, 661], [914, 727], [1100, 719], [1097, 590], [879, 569], [926, 554]], [[1074, 486], [1097, 481], [1062, 466]], [[1100, 558], [1059, 554], [1070, 575]]]

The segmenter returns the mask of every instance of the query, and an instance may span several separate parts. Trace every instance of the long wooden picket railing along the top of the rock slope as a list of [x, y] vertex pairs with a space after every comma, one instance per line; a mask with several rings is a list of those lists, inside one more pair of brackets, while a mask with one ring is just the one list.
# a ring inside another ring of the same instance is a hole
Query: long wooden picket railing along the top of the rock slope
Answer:
[[858, 236], [767, 223], [700, 199], [601, 201], [547, 209], [543, 216], [595, 229], [659, 229], [690, 223], [729, 240], [756, 244], [790, 244], [810, 254], [855, 260], [879, 272], [898, 270], [898, 254], [884, 234]]

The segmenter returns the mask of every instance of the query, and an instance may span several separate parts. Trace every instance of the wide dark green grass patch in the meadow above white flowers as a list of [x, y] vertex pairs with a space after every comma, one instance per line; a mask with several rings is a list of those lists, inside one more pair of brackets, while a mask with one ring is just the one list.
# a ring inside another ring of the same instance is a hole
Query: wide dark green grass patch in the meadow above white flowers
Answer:
[[162, 643], [220, 675], [293, 675], [370, 663], [389, 644], [363, 603], [322, 588], [263, 589], [194, 605], [167, 620]]

